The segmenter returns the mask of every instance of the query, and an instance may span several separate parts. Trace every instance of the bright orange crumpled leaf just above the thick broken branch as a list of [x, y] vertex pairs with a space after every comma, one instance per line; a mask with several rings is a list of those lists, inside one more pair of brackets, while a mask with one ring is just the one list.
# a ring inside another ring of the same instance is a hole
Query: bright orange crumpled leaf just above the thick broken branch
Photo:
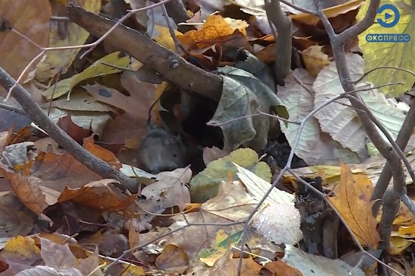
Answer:
[[223, 37], [230, 36], [236, 30], [246, 35], [246, 26], [232, 28], [229, 23], [220, 15], [210, 15], [201, 30], [190, 30], [183, 35], [178, 35], [179, 41], [187, 48], [206, 48], [223, 40]]

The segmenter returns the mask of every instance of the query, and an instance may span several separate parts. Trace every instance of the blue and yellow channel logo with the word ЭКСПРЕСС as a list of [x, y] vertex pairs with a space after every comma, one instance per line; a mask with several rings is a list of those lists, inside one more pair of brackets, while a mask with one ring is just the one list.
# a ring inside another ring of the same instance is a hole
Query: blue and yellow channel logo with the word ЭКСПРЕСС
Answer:
[[[376, 19], [376, 22], [383, 28], [393, 28], [399, 23], [400, 13], [398, 8], [391, 4], [385, 4], [378, 8], [377, 13], [382, 14], [383, 18]], [[390, 20], [392, 19], [393, 20]], [[411, 36], [409, 34], [367, 34], [367, 42], [394, 42], [394, 43], [407, 43], [411, 41]]]

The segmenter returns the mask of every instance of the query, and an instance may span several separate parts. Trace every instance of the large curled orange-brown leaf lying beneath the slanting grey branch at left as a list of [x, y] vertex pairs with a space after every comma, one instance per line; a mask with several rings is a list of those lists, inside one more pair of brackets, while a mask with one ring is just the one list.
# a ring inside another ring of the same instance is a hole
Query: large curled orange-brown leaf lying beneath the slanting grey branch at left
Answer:
[[[86, 148], [113, 166], [120, 166], [114, 155], [93, 144], [92, 138], [87, 140]], [[20, 155], [16, 160], [27, 158], [26, 151], [21, 150]], [[135, 200], [134, 196], [127, 197], [115, 188], [112, 185], [115, 180], [102, 179], [64, 150], [39, 152], [35, 161], [20, 164], [10, 168], [0, 163], [0, 173], [24, 205], [37, 215], [50, 205], [70, 199], [107, 210], [122, 210]], [[19, 166], [22, 170], [17, 171]]]

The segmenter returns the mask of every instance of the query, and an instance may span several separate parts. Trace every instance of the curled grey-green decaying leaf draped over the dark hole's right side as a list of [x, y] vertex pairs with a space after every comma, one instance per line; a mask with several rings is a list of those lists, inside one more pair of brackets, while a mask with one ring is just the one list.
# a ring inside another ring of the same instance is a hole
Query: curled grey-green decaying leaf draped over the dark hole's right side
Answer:
[[244, 145], [254, 150], [264, 148], [267, 143], [269, 118], [254, 115], [257, 108], [270, 112], [270, 108], [282, 106], [281, 101], [268, 86], [245, 70], [225, 66], [220, 68], [223, 74], [223, 91], [219, 106], [210, 124], [220, 124], [225, 137], [225, 150], [231, 151]]

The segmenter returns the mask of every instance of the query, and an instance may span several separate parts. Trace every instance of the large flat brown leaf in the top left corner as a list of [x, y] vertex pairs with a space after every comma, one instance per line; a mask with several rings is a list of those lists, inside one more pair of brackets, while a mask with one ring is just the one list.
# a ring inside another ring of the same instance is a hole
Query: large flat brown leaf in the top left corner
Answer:
[[[48, 46], [50, 3], [48, 0], [1, 1], [0, 18], [2, 26], [6, 27], [0, 32], [0, 67], [17, 79], [30, 61], [42, 52], [39, 46]], [[33, 75], [40, 60], [30, 67], [24, 80], [29, 72]]]

